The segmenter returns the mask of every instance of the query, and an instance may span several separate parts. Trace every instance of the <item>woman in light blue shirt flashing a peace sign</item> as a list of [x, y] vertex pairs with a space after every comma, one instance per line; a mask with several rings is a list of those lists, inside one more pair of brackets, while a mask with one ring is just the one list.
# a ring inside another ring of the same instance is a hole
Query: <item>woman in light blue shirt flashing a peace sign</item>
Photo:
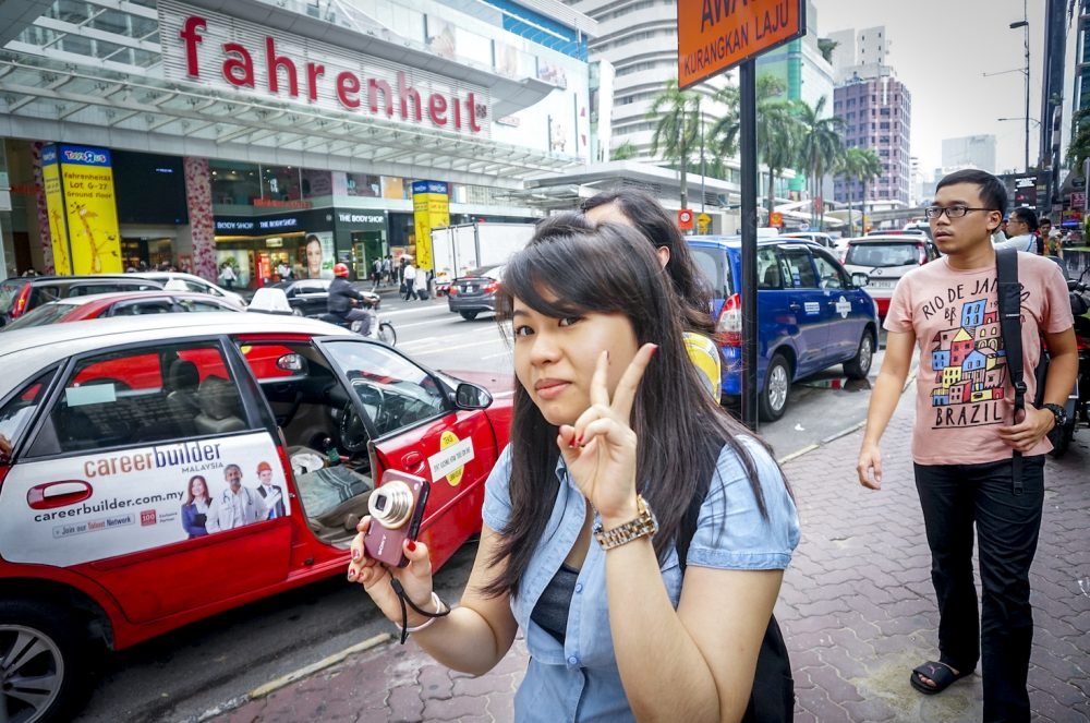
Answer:
[[487, 672], [521, 627], [518, 721], [740, 720], [799, 538], [779, 468], [704, 391], [630, 227], [542, 221], [501, 293], [519, 383], [461, 605], [435, 616], [423, 543], [404, 568], [366, 557], [370, 518], [349, 579], [455, 670]]

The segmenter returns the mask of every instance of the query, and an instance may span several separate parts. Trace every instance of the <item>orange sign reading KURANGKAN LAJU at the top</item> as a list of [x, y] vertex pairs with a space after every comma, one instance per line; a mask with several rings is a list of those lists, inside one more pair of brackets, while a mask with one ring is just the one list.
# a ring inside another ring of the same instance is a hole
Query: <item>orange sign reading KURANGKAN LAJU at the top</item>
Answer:
[[678, 85], [804, 35], [804, 15], [806, 0], [678, 0]]

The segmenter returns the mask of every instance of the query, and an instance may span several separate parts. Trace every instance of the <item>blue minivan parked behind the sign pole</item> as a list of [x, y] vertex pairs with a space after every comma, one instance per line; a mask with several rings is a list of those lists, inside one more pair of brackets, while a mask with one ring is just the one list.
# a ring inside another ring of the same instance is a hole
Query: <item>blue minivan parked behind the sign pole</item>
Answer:
[[[741, 395], [740, 237], [686, 239], [712, 287], [712, 318], [725, 359], [723, 396]], [[791, 384], [836, 364], [865, 378], [877, 348], [874, 300], [836, 257], [800, 239], [760, 239], [758, 265], [758, 408], [761, 420], [784, 415]]]

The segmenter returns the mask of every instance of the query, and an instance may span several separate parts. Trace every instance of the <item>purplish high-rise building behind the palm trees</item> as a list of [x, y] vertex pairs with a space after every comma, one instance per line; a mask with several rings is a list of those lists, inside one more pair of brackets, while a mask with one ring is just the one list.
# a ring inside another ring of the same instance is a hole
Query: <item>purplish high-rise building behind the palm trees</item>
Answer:
[[[891, 71], [886, 67], [887, 71]], [[892, 71], [879, 77], [855, 76], [834, 92], [833, 113], [844, 120], [846, 147], [871, 148], [882, 173], [867, 185], [867, 203], [907, 206], [911, 170], [912, 96]], [[834, 197], [863, 200], [862, 184], [838, 177]]]

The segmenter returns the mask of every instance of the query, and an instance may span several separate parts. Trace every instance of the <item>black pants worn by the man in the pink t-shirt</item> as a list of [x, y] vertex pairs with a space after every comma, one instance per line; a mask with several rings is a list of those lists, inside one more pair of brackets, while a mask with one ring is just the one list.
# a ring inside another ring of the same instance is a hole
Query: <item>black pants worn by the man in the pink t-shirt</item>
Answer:
[[[916, 466], [938, 598], [941, 660], [971, 671], [982, 660], [984, 722], [1028, 722], [1026, 676], [1033, 640], [1029, 568], [1044, 502], [1044, 456], [1022, 459], [1021, 494], [1009, 460]], [[972, 531], [980, 545], [983, 614], [972, 580]]]

